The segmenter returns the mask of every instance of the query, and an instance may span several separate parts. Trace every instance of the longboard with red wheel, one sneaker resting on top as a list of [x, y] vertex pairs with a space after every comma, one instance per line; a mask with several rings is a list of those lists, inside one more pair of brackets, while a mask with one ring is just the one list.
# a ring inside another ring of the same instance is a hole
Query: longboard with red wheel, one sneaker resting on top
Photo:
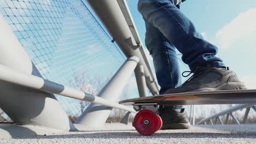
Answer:
[[132, 105], [138, 111], [132, 125], [144, 136], [152, 135], [162, 127], [161, 117], [157, 114], [159, 105], [247, 103], [256, 104], [256, 89], [174, 93], [119, 101], [119, 104]]

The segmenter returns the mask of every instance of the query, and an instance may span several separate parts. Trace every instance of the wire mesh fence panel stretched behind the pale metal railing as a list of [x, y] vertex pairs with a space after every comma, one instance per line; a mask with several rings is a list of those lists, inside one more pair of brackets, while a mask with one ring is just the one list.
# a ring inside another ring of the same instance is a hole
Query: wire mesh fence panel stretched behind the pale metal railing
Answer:
[[[2, 0], [0, 13], [44, 79], [98, 94], [125, 61], [84, 0]], [[73, 121], [88, 105], [56, 97]]]

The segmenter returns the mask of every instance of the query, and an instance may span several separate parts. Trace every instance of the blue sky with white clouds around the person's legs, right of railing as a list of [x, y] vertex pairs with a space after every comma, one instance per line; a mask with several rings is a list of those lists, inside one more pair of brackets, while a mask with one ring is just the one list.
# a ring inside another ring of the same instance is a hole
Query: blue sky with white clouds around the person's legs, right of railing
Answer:
[[[127, 0], [133, 20], [144, 43], [146, 29], [137, 10], [137, 0]], [[256, 88], [256, 1], [187, 0], [181, 11], [203, 37], [219, 47], [217, 56], [246, 83]], [[255, 25], [254, 25], [255, 24]], [[182, 65], [182, 71], [187, 67]]]

